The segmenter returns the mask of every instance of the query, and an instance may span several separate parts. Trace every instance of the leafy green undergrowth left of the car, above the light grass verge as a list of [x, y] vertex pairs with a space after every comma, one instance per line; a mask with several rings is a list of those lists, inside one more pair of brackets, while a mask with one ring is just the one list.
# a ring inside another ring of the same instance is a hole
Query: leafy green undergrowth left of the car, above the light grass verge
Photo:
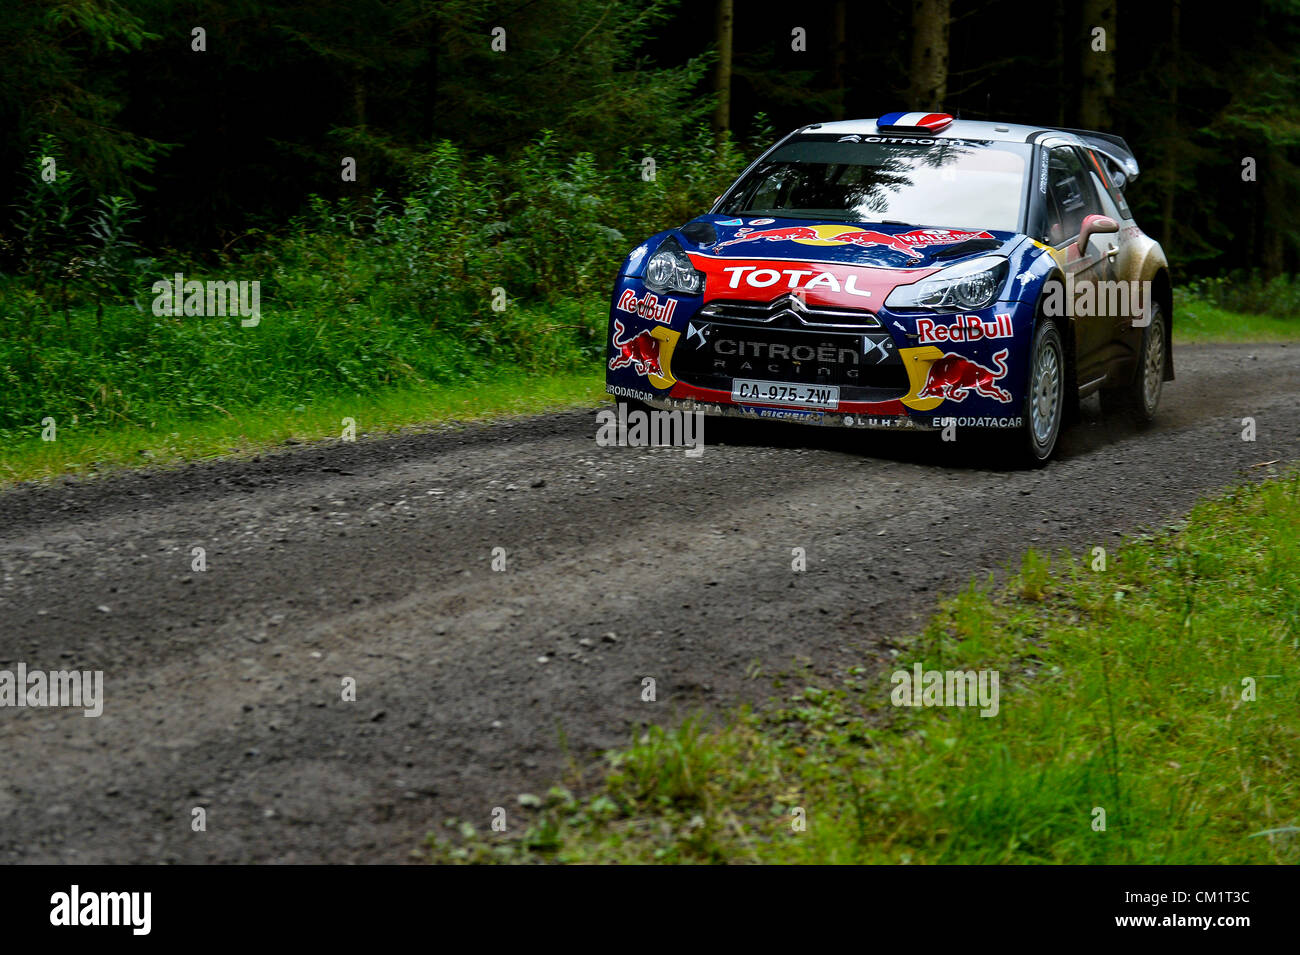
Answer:
[[[216, 266], [136, 259], [129, 199], [92, 204], [34, 173], [26, 268], [0, 277], [0, 435], [46, 416], [148, 425], [594, 366], [623, 257], [707, 208], [742, 164], [703, 129], [607, 162], [563, 156], [550, 135], [511, 161], [434, 143], [400, 199], [311, 196], [283, 233]], [[151, 285], [174, 272], [260, 282], [260, 324], [155, 316]]]

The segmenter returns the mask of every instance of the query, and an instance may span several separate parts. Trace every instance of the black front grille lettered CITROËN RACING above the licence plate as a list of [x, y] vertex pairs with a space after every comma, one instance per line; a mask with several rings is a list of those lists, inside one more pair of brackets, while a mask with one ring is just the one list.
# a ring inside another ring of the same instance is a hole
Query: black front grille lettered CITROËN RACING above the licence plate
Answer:
[[692, 318], [672, 353], [676, 378], [731, 391], [733, 378], [836, 385], [841, 400], [884, 401], [907, 394], [907, 370], [888, 331], [785, 329]]

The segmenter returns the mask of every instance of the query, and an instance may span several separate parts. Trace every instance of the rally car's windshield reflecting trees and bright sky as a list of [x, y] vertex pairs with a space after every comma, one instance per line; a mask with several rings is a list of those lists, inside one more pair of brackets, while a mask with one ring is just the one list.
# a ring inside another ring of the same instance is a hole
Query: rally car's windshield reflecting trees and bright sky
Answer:
[[816, 135], [781, 146], [731, 188], [722, 212], [1018, 231], [1027, 143], [854, 139]]

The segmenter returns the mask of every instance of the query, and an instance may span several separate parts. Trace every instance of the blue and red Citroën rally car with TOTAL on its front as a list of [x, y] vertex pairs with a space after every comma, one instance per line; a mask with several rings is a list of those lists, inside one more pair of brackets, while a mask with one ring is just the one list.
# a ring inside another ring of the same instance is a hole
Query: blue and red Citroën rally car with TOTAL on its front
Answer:
[[1046, 461], [1080, 398], [1150, 421], [1169, 264], [1084, 130], [889, 113], [814, 123], [627, 257], [619, 400], [862, 429], [1001, 431]]

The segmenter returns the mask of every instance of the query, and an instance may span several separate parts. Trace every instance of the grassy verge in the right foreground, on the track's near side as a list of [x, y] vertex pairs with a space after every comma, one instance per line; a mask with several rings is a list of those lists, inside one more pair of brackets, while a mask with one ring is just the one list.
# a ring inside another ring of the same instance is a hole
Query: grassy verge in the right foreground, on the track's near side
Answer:
[[[840, 686], [653, 728], [512, 808], [512, 832], [448, 820], [432, 858], [1300, 863], [1300, 476], [1202, 503], [1105, 569], [1091, 551], [1045, 567], [972, 583]], [[997, 715], [892, 706], [918, 661], [996, 669]]]

